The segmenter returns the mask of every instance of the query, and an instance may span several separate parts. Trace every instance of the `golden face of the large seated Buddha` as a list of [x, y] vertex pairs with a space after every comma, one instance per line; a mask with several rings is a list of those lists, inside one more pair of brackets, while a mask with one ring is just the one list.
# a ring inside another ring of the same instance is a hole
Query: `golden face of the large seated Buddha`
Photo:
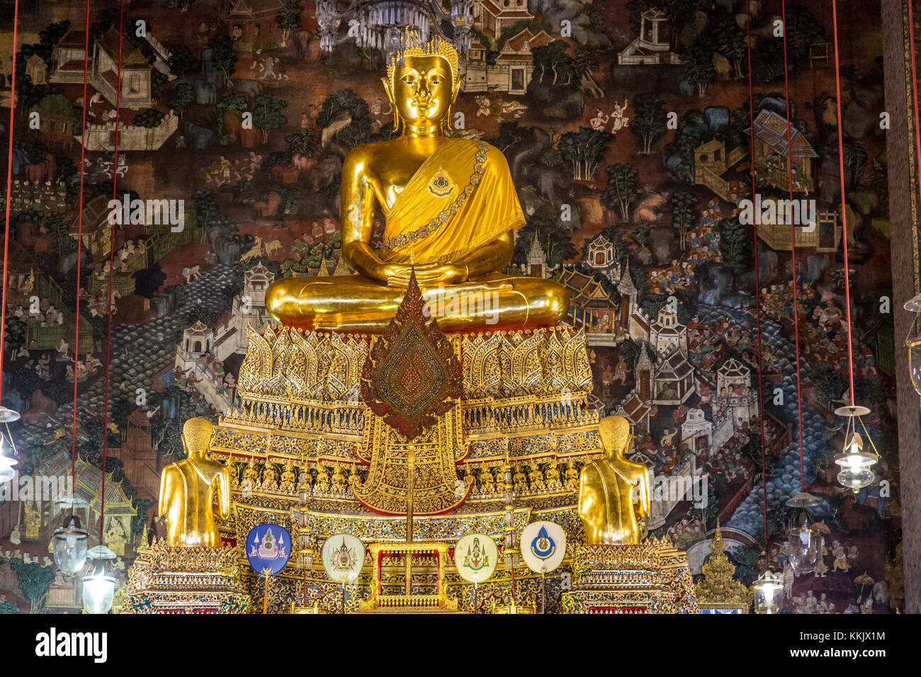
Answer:
[[442, 56], [406, 56], [393, 73], [391, 101], [411, 126], [438, 124], [448, 114], [457, 90], [451, 68]]

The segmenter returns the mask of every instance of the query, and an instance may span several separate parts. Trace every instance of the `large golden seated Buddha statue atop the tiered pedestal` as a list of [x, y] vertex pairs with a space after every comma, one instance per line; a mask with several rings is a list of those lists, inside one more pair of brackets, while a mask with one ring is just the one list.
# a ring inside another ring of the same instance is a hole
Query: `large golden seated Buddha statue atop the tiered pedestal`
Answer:
[[461, 88], [458, 53], [444, 40], [406, 49], [382, 81], [402, 133], [356, 147], [343, 166], [342, 255], [356, 274], [277, 280], [266, 308], [286, 325], [380, 333], [414, 268], [445, 332], [554, 325], [569, 309], [563, 286], [498, 273], [525, 224], [505, 156], [443, 130]]

